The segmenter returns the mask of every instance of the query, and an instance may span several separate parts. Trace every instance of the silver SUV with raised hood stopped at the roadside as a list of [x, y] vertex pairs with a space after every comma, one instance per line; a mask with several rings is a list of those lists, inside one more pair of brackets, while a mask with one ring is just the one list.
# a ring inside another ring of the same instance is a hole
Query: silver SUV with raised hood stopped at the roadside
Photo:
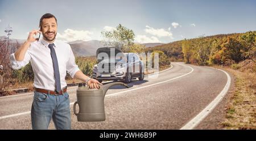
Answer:
[[131, 79], [144, 79], [144, 64], [135, 53], [122, 53], [117, 48], [97, 49], [98, 64], [93, 67], [93, 78], [102, 80], [121, 80], [130, 83]]

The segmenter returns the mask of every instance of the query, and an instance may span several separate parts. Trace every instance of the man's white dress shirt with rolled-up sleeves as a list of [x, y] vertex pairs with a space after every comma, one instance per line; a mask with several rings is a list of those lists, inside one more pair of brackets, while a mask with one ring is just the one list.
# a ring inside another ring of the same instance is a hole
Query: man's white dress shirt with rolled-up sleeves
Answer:
[[[65, 82], [67, 71], [74, 78], [76, 72], [79, 71], [79, 67], [75, 63], [75, 56], [69, 44], [56, 40], [53, 43], [59, 64], [60, 84], [61, 88], [64, 88], [67, 86]], [[43, 39], [32, 42], [23, 61], [16, 61], [14, 53], [11, 54], [11, 67], [18, 70], [26, 66], [30, 61], [35, 76], [34, 87], [54, 91], [55, 78], [51, 50], [48, 48], [49, 44]]]

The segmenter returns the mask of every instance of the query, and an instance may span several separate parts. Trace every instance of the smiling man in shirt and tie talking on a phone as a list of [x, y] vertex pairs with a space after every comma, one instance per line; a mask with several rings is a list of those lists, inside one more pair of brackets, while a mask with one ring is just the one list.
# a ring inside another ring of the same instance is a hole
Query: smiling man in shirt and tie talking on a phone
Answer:
[[[20, 69], [30, 61], [34, 70], [34, 101], [31, 108], [32, 129], [48, 129], [51, 118], [56, 129], [71, 129], [71, 114], [66, 72], [72, 78], [80, 79], [90, 88], [101, 84], [84, 75], [75, 63], [69, 44], [55, 40], [57, 19], [52, 14], [44, 14], [39, 23], [40, 31], [29, 33], [27, 41], [11, 54], [13, 69]], [[34, 35], [42, 33], [43, 39]]]

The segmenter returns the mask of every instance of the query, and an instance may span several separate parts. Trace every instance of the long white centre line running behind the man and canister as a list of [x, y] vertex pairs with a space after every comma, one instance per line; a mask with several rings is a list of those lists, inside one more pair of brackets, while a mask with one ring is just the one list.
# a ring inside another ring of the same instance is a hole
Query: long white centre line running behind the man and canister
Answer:
[[[178, 64], [178, 65], [179, 65], [179, 64]], [[182, 65], [181, 65], [181, 66], [182, 66]], [[171, 68], [172, 68], [172, 65], [171, 65]], [[170, 69], [171, 69], [171, 68], [170, 68]], [[193, 71], [193, 68], [192, 68], [192, 67], [190, 67], [190, 68], [191, 68], [192, 71]], [[164, 70], [163, 70], [163, 71], [164, 71]], [[162, 71], [162, 72], [163, 72], [163, 71]], [[192, 72], [192, 71], [191, 71], [191, 72]], [[190, 74], [191, 72], [188, 72], [188, 74]], [[188, 74], [185, 74], [185, 75], [188, 75]], [[173, 79], [170, 79], [170, 80], [174, 80], [174, 79], [180, 78], [180, 77], [185, 76], [185, 75], [181, 75], [181, 76], [178, 76], [178, 77], [173, 78]], [[168, 81], [170, 81], [170, 80], [167, 80], [167, 81], [164, 81], [164, 82], [168, 82]], [[154, 86], [154, 85], [156, 85], [156, 84], [160, 84], [160, 83], [164, 83], [164, 82], [159, 82], [159, 83], [155, 83], [155, 84], [150, 84], [149, 86]], [[128, 90], [128, 91], [116, 92], [116, 93], [112, 93], [112, 94], [110, 94], [110, 95], [106, 95], [105, 97], [113, 96], [113, 95], [118, 95], [118, 94], [121, 94], [121, 93], [124, 93], [124, 92], [134, 91], [134, 90], [136, 90], [136, 89], [146, 88], [146, 87], [149, 87], [149, 86], [134, 88], [134, 89], [130, 89], [130, 90]], [[74, 103], [75, 103], [75, 102], [71, 102], [70, 105], [73, 105]], [[24, 114], [30, 114], [30, 113], [31, 113], [30, 111], [27, 111], [27, 112], [22, 112], [22, 113], [17, 113], [17, 114], [9, 114], [9, 115], [7, 115], [7, 116], [2, 116], [2, 117], [0, 117], [0, 119], [10, 118], [10, 117], [16, 117], [16, 116], [22, 116], [22, 115], [24, 115]]]

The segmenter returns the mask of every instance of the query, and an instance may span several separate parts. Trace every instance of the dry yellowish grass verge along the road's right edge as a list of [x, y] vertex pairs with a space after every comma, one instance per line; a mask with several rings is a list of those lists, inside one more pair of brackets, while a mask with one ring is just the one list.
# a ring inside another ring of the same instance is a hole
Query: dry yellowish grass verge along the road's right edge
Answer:
[[255, 73], [225, 69], [235, 76], [235, 91], [225, 109], [223, 129], [256, 129]]

